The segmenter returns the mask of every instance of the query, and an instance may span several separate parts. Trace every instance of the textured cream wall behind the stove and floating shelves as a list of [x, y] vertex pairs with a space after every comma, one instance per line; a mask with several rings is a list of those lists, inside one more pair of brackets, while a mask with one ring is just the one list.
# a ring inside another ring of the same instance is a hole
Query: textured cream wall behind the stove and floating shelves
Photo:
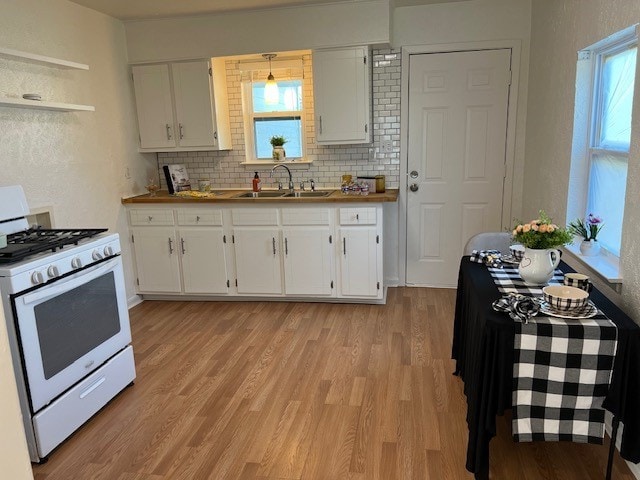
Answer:
[[[144, 192], [154, 155], [137, 153], [137, 127], [121, 22], [64, 0], [0, 0], [0, 45], [72, 60], [89, 71], [0, 58], [0, 96], [89, 104], [95, 112], [0, 107], [0, 185], [21, 184], [55, 226], [126, 233], [122, 196]], [[125, 178], [126, 171], [131, 178]], [[128, 242], [122, 242], [125, 262]], [[135, 289], [125, 267], [127, 293]]]

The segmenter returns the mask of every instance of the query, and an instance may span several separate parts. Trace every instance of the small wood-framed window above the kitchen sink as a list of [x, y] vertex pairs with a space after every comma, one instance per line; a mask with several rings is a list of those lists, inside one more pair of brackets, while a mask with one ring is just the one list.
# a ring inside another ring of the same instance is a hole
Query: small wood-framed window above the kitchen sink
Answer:
[[287, 159], [304, 156], [304, 88], [300, 68], [274, 68], [278, 84], [275, 103], [265, 100], [268, 70], [243, 73], [243, 110], [246, 160], [272, 161], [271, 137], [282, 136]]

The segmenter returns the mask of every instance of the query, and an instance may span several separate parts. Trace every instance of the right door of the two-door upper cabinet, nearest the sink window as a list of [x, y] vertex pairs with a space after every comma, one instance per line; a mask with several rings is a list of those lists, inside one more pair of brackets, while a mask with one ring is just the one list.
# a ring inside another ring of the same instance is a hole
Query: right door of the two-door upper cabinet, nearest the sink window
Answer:
[[181, 147], [215, 147], [209, 62], [171, 65], [176, 102], [176, 136]]

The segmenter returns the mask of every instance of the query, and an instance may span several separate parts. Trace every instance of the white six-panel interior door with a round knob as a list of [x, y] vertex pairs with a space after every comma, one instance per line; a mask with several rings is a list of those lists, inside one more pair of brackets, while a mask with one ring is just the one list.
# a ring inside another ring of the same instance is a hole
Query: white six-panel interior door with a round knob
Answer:
[[455, 286], [466, 241], [501, 230], [511, 50], [411, 55], [409, 285]]

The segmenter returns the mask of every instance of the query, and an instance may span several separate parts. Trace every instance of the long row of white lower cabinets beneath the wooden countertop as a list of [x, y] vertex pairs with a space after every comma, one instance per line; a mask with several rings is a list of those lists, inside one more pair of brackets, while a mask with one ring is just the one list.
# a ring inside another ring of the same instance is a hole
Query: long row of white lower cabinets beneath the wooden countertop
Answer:
[[141, 294], [377, 301], [382, 206], [130, 209]]

